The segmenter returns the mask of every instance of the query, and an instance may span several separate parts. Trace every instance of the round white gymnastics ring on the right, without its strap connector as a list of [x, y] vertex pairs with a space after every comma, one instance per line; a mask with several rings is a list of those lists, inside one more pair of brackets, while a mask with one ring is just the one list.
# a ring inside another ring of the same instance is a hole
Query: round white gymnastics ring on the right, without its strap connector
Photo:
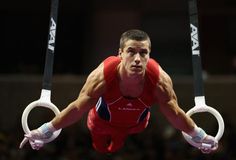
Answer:
[[[210, 107], [210, 106], [195, 106], [193, 107], [192, 109], [190, 109], [186, 114], [188, 116], [191, 116], [195, 113], [200, 113], [200, 112], [209, 112], [211, 113], [212, 115], [215, 116], [215, 118], [217, 119], [217, 122], [218, 122], [218, 132], [215, 136], [215, 139], [217, 141], [219, 141], [224, 133], [224, 120], [222, 118], [222, 116], [220, 115], [220, 113], [215, 110], [214, 108]], [[196, 147], [196, 148], [201, 148], [201, 147], [206, 147], [206, 148], [212, 148], [211, 145], [209, 144], [205, 144], [205, 143], [197, 143], [197, 142], [194, 142], [192, 140], [192, 137], [188, 134], [186, 134], [185, 132], [182, 132], [184, 138], [186, 139], [186, 141], [191, 144], [192, 146]]]

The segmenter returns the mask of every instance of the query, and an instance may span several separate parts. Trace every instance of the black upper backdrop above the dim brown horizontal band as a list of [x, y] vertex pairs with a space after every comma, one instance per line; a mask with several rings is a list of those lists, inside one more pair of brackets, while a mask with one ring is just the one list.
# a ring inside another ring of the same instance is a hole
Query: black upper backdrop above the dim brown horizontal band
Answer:
[[[198, 8], [203, 69], [234, 74], [236, 2], [200, 0]], [[46, 0], [2, 2], [0, 73], [43, 72], [49, 9]], [[60, 1], [54, 73], [88, 74], [117, 53], [121, 33], [131, 28], [150, 35], [151, 56], [168, 73], [191, 74], [186, 0]]]

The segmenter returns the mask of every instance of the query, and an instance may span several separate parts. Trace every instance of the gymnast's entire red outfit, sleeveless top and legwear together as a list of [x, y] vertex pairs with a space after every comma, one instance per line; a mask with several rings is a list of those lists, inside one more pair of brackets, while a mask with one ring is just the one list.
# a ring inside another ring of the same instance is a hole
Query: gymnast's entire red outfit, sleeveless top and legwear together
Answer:
[[[155, 103], [155, 97], [150, 93], [159, 78], [158, 64], [153, 59], [148, 61], [145, 80], [142, 82], [143, 89], [133, 96], [123, 94], [120, 89], [117, 76], [120, 63], [119, 56], [108, 57], [103, 62], [107, 91], [88, 115], [87, 123], [93, 146], [101, 152], [116, 151], [123, 145], [128, 134], [138, 133], [146, 128], [150, 117], [149, 109]], [[111, 143], [107, 146], [106, 141], [109, 140]]]

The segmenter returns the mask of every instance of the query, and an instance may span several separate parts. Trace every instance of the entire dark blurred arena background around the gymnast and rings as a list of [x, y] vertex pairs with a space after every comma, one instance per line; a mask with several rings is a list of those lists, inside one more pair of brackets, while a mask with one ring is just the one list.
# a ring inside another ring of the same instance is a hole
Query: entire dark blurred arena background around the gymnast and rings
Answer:
[[[199, 0], [199, 36], [207, 104], [225, 120], [225, 133], [215, 154], [203, 155], [152, 107], [148, 128], [128, 138], [113, 155], [93, 150], [86, 115], [40, 151], [19, 150], [24, 132], [21, 115], [37, 100], [48, 38], [50, 1], [5, 0], [0, 5], [0, 160], [233, 160], [236, 90], [236, 1]], [[52, 102], [60, 110], [77, 98], [86, 76], [103, 59], [116, 55], [120, 35], [141, 29], [152, 40], [151, 57], [173, 79], [180, 106], [194, 106], [188, 1], [61, 0], [59, 4]], [[199, 114], [198, 114], [199, 115]], [[208, 113], [193, 118], [216, 134], [217, 121]], [[30, 128], [50, 120], [51, 111], [35, 108]]]

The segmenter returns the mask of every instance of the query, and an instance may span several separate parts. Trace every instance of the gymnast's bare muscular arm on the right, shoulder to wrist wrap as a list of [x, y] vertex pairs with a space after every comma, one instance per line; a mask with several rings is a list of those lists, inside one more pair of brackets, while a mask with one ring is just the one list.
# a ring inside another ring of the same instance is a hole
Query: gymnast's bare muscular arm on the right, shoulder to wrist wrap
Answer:
[[156, 87], [156, 97], [161, 112], [175, 128], [186, 133], [193, 131], [195, 123], [179, 107], [171, 78], [161, 67], [160, 79]]

